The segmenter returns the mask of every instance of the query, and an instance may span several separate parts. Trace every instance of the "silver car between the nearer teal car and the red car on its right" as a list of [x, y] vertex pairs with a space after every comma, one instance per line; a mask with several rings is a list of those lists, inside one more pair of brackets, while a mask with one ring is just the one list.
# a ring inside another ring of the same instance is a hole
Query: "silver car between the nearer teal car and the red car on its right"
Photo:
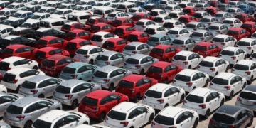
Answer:
[[124, 70], [111, 65], [104, 66], [97, 70], [92, 76], [92, 82], [102, 86], [110, 91], [114, 90], [122, 78], [131, 75], [130, 70]]

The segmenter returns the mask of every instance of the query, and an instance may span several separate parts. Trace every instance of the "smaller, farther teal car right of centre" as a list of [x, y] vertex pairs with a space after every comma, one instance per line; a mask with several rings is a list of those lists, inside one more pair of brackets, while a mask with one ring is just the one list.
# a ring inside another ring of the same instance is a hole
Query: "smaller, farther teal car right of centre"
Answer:
[[158, 45], [169, 45], [174, 41], [174, 38], [170, 38], [169, 36], [163, 34], [154, 34], [149, 37], [146, 43], [149, 46], [158, 46]]

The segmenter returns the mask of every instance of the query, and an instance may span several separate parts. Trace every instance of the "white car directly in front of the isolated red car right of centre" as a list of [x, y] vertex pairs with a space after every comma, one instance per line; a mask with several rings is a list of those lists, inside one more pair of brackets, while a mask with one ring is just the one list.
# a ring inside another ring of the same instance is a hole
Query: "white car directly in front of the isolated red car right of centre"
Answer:
[[196, 70], [208, 74], [210, 77], [215, 77], [218, 73], [228, 72], [229, 63], [222, 58], [208, 56], [203, 58], [198, 64]]

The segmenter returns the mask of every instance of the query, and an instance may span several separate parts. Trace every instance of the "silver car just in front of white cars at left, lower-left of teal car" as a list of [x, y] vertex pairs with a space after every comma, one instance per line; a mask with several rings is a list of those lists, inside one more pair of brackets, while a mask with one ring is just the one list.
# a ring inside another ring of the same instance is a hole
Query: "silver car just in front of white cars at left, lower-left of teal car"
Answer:
[[24, 81], [18, 93], [25, 97], [51, 97], [55, 88], [63, 81], [65, 80], [52, 78], [47, 75], [36, 75]]

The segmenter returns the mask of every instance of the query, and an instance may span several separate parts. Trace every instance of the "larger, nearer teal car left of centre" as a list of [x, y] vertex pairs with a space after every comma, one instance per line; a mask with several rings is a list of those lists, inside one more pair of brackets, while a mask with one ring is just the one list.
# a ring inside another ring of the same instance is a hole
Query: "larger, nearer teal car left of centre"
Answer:
[[82, 62], [75, 62], [66, 65], [60, 73], [60, 78], [64, 80], [78, 79], [78, 80], [92, 80], [92, 75], [100, 67], [96, 65], [90, 65]]

